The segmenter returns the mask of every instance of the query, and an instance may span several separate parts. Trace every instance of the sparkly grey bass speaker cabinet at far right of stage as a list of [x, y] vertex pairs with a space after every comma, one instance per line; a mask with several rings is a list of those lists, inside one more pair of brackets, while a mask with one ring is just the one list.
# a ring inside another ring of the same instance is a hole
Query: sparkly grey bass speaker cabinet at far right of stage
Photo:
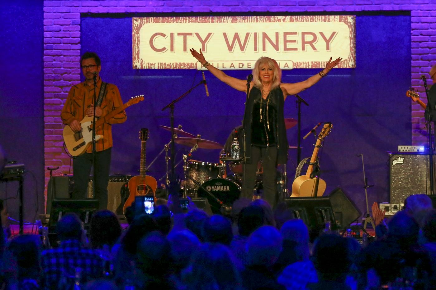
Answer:
[[388, 156], [390, 203], [404, 203], [412, 194], [430, 194], [429, 155], [389, 153]]

